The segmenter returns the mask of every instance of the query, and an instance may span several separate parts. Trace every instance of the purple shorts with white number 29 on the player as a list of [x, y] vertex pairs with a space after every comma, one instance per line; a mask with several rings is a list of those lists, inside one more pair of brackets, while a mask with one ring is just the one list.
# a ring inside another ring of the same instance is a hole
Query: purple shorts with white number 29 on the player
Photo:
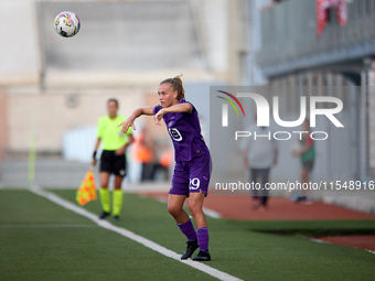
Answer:
[[172, 179], [172, 187], [169, 194], [186, 195], [191, 192], [202, 191], [205, 196], [208, 192], [212, 163], [210, 153], [205, 153], [191, 161], [179, 161], [175, 163]]

